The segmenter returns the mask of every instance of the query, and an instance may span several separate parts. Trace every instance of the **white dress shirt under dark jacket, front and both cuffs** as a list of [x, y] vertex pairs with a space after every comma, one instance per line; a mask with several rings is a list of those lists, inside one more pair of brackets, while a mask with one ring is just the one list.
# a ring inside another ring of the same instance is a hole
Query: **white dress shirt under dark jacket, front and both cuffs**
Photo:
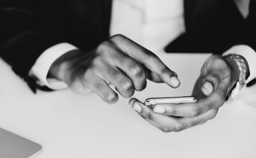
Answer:
[[[249, 13], [250, 0], [235, 0], [243, 16]], [[122, 34], [156, 55], [164, 47], [185, 32], [183, 0], [113, 0], [110, 35]], [[67, 84], [47, 78], [52, 63], [72, 49], [79, 49], [68, 43], [61, 43], [47, 49], [36, 60], [30, 74], [49, 88], [67, 88]], [[249, 64], [250, 76], [247, 82], [256, 78], [256, 53], [246, 45], [237, 45], [224, 54], [239, 54]]]

